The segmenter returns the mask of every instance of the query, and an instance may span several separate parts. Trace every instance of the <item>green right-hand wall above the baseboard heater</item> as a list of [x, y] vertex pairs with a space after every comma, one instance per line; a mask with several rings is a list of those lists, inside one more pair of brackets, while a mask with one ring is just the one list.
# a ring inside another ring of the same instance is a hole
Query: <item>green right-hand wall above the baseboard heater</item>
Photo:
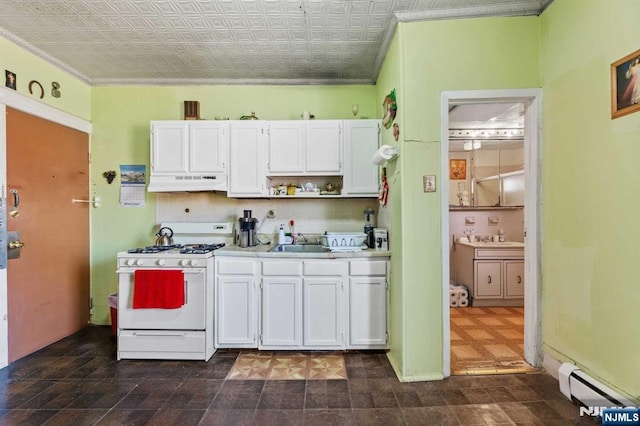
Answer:
[[640, 112], [615, 120], [610, 65], [640, 48], [636, 0], [542, 15], [543, 350], [640, 395]]

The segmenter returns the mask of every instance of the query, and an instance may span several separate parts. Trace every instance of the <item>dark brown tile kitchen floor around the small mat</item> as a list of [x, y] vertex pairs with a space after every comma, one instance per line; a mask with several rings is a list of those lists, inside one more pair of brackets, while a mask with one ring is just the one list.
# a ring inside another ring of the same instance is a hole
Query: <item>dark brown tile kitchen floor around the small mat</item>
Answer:
[[593, 424], [544, 373], [401, 383], [384, 354], [347, 352], [347, 380], [225, 380], [237, 351], [202, 362], [115, 350], [109, 327], [89, 327], [0, 370], [0, 424]]

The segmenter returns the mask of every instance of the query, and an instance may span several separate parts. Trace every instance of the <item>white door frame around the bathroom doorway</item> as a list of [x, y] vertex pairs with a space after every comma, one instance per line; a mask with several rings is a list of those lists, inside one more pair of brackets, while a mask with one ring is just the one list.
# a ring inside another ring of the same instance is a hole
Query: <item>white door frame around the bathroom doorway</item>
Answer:
[[541, 330], [541, 178], [540, 153], [542, 147], [542, 90], [474, 90], [442, 92], [441, 97], [441, 185], [442, 205], [442, 347], [443, 374], [451, 375], [451, 341], [449, 318], [449, 105], [492, 102], [522, 102], [524, 116], [524, 169], [525, 169], [525, 314], [524, 314], [524, 357], [539, 367], [542, 365]]

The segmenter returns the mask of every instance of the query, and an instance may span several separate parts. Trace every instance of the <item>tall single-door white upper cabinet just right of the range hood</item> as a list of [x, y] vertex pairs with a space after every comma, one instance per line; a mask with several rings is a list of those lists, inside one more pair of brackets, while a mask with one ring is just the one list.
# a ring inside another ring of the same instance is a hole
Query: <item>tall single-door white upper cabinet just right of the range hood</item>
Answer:
[[262, 197], [265, 183], [265, 124], [246, 120], [231, 122], [229, 148], [229, 197]]

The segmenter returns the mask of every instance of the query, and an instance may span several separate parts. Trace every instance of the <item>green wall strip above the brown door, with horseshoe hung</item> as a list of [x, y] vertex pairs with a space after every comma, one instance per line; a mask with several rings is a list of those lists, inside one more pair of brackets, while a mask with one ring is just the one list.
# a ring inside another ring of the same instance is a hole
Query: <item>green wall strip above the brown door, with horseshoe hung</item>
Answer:
[[[36, 80], [42, 84], [45, 92], [41, 102], [85, 120], [91, 120], [91, 87], [88, 84], [0, 37], [0, 84], [3, 87], [5, 70], [16, 74], [18, 93], [39, 99], [40, 88], [37, 85], [32, 86], [33, 94], [29, 93], [29, 82]], [[59, 98], [51, 96], [53, 81], [60, 83]]]

